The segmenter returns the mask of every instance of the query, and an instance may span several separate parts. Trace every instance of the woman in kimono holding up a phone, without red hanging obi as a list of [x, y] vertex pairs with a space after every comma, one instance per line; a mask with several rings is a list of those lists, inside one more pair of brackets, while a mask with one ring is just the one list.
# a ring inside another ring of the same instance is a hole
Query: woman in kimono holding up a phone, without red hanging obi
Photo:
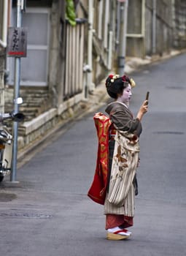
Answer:
[[[139, 135], [142, 117], [148, 110], [145, 100], [136, 118], [128, 109], [132, 96], [132, 79], [123, 75], [109, 75], [106, 91], [115, 99], [106, 107], [109, 127], [108, 173], [104, 214], [106, 214], [107, 239], [129, 238], [126, 228], [133, 226], [134, 196], [136, 192], [136, 168], [139, 163]], [[119, 178], [118, 178], [119, 177]]]

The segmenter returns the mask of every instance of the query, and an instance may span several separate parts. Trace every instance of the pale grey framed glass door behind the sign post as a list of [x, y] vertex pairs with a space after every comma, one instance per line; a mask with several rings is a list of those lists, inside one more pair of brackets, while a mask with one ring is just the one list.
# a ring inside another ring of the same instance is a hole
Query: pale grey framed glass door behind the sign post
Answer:
[[[28, 29], [28, 44], [27, 57], [21, 58], [20, 61], [21, 86], [47, 86], [49, 14], [50, 10], [47, 8], [27, 8], [26, 12], [23, 13], [22, 26]], [[13, 20], [16, 20], [16, 10], [13, 12]], [[9, 82], [12, 84], [14, 80], [14, 58], [9, 59], [11, 59], [9, 61]]]

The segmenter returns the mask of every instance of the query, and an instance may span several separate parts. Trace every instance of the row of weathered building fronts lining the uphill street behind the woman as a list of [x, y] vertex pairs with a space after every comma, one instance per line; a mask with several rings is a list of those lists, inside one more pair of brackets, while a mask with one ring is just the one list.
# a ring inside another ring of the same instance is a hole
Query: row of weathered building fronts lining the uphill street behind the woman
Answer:
[[[53, 129], [109, 72], [124, 72], [125, 57], [185, 48], [183, 0], [27, 0], [22, 26], [28, 30], [21, 58], [21, 146]], [[171, 2], [171, 4], [170, 4]], [[14, 101], [15, 58], [7, 57], [7, 30], [16, 26], [17, 0], [0, 1], [1, 111]]]

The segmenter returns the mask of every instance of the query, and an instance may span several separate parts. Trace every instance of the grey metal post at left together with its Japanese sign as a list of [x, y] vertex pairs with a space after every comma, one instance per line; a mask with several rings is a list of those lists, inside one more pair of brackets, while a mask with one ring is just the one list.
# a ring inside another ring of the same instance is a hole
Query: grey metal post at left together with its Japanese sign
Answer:
[[[16, 27], [9, 28], [7, 54], [15, 57], [15, 74], [14, 74], [14, 112], [18, 113], [18, 98], [20, 94], [20, 57], [26, 57], [26, 29], [21, 28], [22, 12], [25, 9], [25, 1], [17, 1], [17, 20]], [[13, 149], [12, 149], [12, 171], [10, 181], [16, 182], [17, 157], [18, 157], [18, 122], [13, 124]]]

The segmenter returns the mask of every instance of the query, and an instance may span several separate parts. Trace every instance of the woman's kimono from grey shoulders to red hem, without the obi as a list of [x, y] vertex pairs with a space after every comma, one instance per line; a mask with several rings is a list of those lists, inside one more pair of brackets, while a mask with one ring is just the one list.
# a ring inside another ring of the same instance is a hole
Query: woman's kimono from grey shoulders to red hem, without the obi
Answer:
[[[122, 102], [112, 102], [106, 113], [115, 128], [109, 135], [109, 181], [104, 201], [106, 229], [119, 225], [129, 227], [125, 219], [133, 223], [133, 179], [139, 162], [139, 135], [142, 124]], [[131, 218], [131, 219], [130, 219]], [[112, 221], [111, 221], [112, 219]]]

